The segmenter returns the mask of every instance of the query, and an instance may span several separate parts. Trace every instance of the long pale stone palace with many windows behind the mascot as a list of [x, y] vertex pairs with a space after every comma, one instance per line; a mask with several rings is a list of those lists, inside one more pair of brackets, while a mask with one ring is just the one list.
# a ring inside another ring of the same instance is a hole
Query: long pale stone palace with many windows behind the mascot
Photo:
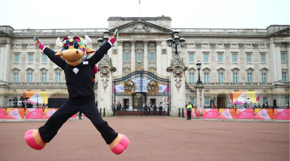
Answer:
[[98, 107], [108, 115], [117, 103], [131, 110], [162, 103], [171, 116], [186, 102], [197, 108], [289, 107], [289, 25], [192, 27], [175, 28], [164, 16], [109, 17], [108, 26], [88, 29], [0, 26], [0, 106], [16, 94], [32, 103], [40, 96], [40, 104], [67, 94], [63, 70], [35, 46], [34, 36], [57, 52], [57, 37], [88, 35], [97, 50], [118, 29], [95, 79]]

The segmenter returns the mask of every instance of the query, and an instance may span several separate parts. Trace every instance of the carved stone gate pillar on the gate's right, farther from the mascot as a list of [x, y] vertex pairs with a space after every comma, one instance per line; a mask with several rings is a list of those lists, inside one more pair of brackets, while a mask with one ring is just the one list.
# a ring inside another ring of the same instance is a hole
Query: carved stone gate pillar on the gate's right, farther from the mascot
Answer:
[[170, 61], [170, 67], [166, 69], [170, 73], [170, 96], [171, 107], [170, 116], [178, 117], [178, 109], [185, 108], [185, 76], [184, 72], [187, 67], [184, 67], [183, 58], [175, 55]]

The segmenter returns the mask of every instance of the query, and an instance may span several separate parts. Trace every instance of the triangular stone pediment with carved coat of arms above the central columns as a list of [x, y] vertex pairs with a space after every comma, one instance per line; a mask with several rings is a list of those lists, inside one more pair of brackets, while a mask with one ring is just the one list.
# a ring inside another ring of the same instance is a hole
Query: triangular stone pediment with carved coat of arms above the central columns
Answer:
[[143, 20], [136, 20], [124, 25], [118, 26], [116, 28], [110, 29], [109, 32], [115, 32], [115, 29], [119, 30], [119, 33], [171, 33], [170, 29], [149, 23]]

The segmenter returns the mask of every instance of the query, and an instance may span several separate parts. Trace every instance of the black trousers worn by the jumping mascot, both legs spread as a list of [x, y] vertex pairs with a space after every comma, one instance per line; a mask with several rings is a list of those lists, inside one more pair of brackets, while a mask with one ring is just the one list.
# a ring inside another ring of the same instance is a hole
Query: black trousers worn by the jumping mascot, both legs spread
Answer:
[[87, 118], [91, 120], [97, 130], [101, 133], [102, 137], [107, 144], [113, 142], [113, 140], [118, 136], [106, 121], [100, 116], [99, 110], [97, 109], [95, 103], [95, 96], [90, 97], [85, 103], [79, 104], [75, 103], [74, 100], [68, 99], [44, 124], [44, 126], [39, 127], [39, 133], [41, 138], [45, 142], [50, 142], [52, 138], [57, 134], [57, 131], [61, 126], [68, 120], [71, 116], [81, 111], [86, 115]]

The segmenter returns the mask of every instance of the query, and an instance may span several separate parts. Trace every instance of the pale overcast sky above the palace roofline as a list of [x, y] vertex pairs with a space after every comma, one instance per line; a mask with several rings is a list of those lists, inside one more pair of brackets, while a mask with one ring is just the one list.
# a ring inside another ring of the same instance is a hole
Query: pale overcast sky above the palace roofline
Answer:
[[[171, 28], [290, 25], [289, 0], [140, 0], [140, 17], [171, 17]], [[14, 29], [107, 28], [108, 17], [139, 17], [139, 0], [0, 0], [0, 25]]]

